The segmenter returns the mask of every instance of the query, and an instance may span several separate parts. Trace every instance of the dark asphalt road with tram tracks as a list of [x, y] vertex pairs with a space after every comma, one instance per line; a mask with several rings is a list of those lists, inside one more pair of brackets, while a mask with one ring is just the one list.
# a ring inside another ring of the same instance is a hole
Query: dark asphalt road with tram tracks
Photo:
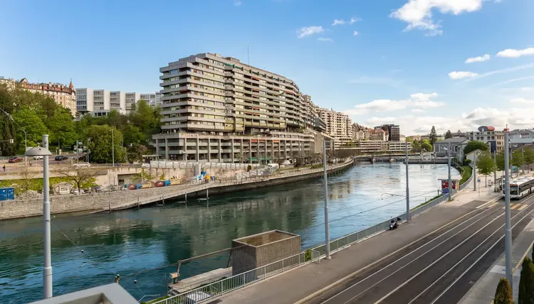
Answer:
[[[511, 210], [513, 238], [532, 219], [534, 197], [512, 201], [518, 203]], [[504, 251], [503, 200], [492, 205], [308, 303], [457, 303]], [[402, 225], [394, 233], [402, 233]]]

